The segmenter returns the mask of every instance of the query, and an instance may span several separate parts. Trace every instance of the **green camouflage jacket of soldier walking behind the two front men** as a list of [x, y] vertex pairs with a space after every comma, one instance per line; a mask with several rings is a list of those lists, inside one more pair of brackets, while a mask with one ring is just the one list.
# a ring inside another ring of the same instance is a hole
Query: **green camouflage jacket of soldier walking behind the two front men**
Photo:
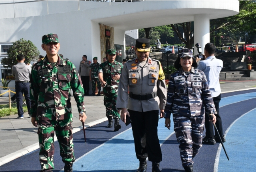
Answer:
[[114, 81], [112, 78], [115, 75], [120, 75], [123, 69], [123, 64], [114, 61], [113, 64], [106, 61], [100, 65], [99, 73], [103, 73], [103, 80], [106, 81], [106, 85], [103, 88], [107, 91], [111, 88], [111, 93], [117, 93], [119, 80]]

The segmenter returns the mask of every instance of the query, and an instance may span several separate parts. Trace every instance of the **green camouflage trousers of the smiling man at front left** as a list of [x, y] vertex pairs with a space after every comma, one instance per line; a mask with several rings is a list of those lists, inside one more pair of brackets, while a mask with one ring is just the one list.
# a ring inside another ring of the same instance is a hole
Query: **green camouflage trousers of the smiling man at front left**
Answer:
[[43, 170], [54, 169], [54, 131], [60, 145], [63, 162], [74, 162], [72, 118], [65, 120], [38, 121], [38, 138], [40, 145], [39, 161]]

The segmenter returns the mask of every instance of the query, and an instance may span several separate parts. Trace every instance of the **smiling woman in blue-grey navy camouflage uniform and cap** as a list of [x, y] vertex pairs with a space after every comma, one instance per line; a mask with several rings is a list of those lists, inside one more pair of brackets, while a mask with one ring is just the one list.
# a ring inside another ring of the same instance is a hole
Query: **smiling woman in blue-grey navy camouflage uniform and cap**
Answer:
[[204, 72], [197, 70], [193, 51], [183, 49], [175, 61], [178, 70], [169, 79], [167, 103], [165, 106], [165, 125], [171, 126], [173, 113], [174, 130], [180, 143], [180, 154], [186, 172], [193, 172], [192, 158], [202, 147], [205, 108], [216, 122], [215, 106]]

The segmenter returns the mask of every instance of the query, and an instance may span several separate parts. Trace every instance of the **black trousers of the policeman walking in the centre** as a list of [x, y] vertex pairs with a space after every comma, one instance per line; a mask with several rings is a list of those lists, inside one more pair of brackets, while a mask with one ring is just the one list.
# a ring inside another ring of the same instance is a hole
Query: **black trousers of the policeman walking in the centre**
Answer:
[[159, 110], [138, 112], [129, 110], [137, 159], [162, 161], [162, 152], [157, 136]]

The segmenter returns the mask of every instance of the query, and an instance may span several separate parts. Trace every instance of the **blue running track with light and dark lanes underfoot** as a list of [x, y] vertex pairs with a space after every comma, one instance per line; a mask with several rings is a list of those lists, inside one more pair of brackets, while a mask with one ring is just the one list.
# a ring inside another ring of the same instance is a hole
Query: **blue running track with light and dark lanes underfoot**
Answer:
[[[224, 146], [220, 143], [203, 145], [194, 158], [194, 172], [256, 172], [256, 89], [222, 94], [220, 115], [226, 135]], [[184, 172], [179, 155], [173, 122], [168, 130], [165, 120], [159, 120], [158, 136], [163, 160], [162, 172]], [[102, 122], [86, 129], [87, 145], [83, 131], [73, 134], [75, 163], [73, 172], [135, 172], [139, 166], [136, 159], [131, 125], [114, 132]], [[55, 143], [54, 172], [63, 172], [58, 142]], [[39, 150], [0, 166], [0, 172], [39, 172]], [[147, 172], [151, 172], [148, 162]]]

